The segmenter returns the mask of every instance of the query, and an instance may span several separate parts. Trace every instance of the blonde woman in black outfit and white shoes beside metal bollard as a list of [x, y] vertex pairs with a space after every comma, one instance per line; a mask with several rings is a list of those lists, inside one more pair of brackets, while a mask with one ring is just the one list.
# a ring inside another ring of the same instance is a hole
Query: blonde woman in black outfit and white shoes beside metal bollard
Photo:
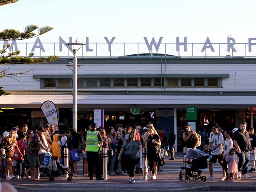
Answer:
[[147, 157], [150, 162], [148, 179], [156, 179], [157, 153], [161, 146], [161, 140], [153, 126], [148, 127], [148, 134], [145, 136], [144, 142], [147, 142]]

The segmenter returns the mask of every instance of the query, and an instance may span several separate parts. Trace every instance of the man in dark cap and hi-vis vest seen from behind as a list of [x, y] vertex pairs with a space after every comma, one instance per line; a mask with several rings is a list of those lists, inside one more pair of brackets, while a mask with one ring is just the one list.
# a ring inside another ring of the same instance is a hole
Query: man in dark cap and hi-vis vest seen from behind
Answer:
[[[96, 131], [97, 124], [91, 124], [91, 129], [87, 131], [83, 137], [85, 141], [85, 147], [83, 146], [83, 153], [86, 152], [86, 158], [88, 163], [88, 172], [90, 180], [93, 180], [93, 168], [96, 170], [96, 179], [104, 180], [100, 172], [100, 146], [103, 143], [103, 139], [99, 131]], [[85, 149], [86, 148], [86, 149]]]

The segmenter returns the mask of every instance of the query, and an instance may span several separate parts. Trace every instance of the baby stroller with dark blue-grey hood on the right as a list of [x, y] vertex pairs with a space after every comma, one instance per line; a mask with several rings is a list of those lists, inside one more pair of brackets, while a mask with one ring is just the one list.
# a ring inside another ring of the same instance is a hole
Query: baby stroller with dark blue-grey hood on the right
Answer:
[[[187, 159], [192, 159], [192, 162], [186, 162], [187, 166], [181, 167], [181, 171], [179, 174], [179, 180], [183, 181], [184, 175], [185, 180], [187, 182], [190, 181], [190, 177], [193, 177], [194, 181], [197, 181], [199, 178], [201, 181], [206, 181], [206, 176], [201, 176], [202, 170], [208, 167], [207, 159], [209, 157], [208, 154], [200, 151], [200, 150], [189, 150], [185, 155]], [[186, 172], [183, 174], [182, 172]]]

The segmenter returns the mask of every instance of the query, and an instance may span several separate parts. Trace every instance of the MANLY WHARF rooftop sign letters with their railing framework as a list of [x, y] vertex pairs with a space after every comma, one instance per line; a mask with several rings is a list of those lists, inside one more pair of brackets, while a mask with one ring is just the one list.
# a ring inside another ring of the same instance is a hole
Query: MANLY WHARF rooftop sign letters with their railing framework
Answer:
[[[85, 40], [85, 41], [84, 41]], [[89, 37], [82, 40], [84, 46], [78, 51], [78, 57], [124, 57], [156, 56], [166, 57], [256, 57], [256, 38], [249, 37], [246, 42], [237, 43], [232, 37], [227, 37], [224, 43], [211, 42], [207, 37], [202, 42], [189, 42], [187, 37], [176, 37], [176, 42], [163, 42], [159, 39], [143, 37], [143, 42], [115, 42], [115, 37], [104, 37], [104, 42], [90, 42]], [[72, 46], [65, 43], [73, 42], [59, 36], [58, 42], [42, 42], [39, 37], [35, 42], [0, 41], [0, 47], [10, 44], [7, 51], [20, 51], [20, 56], [28, 56], [34, 52], [34, 57], [58, 55], [72, 56]]]

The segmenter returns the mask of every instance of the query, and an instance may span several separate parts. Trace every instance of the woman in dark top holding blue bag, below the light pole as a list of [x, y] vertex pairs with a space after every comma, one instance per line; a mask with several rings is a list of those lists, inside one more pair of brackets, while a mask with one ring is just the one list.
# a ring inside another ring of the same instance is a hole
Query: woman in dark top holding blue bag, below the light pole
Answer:
[[[78, 147], [78, 137], [74, 129], [69, 129], [69, 140], [67, 144], [69, 151], [76, 150]], [[73, 177], [78, 177], [76, 161], [72, 161], [72, 166], [74, 170]]]

